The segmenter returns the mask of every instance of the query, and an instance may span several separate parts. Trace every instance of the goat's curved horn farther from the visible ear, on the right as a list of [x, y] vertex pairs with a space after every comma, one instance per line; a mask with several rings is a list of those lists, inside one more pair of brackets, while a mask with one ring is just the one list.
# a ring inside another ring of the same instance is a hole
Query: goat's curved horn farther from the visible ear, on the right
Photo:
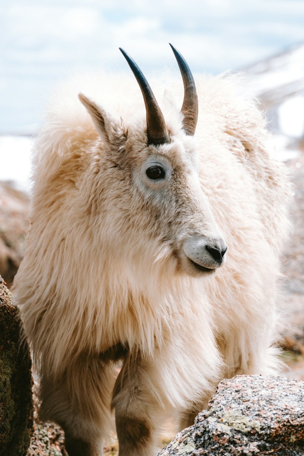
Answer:
[[198, 100], [196, 88], [192, 73], [188, 67], [187, 62], [180, 52], [169, 43], [172, 51], [174, 52], [180, 73], [184, 83], [184, 101], [181, 107], [181, 112], [184, 114], [183, 126], [187, 135], [193, 136], [195, 133], [197, 117], [198, 117]]

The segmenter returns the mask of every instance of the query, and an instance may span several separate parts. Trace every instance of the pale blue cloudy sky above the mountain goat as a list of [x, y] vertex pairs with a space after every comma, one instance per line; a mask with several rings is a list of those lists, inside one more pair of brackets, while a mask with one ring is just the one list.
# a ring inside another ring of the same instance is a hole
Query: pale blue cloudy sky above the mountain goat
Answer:
[[[0, 134], [32, 133], [59, 81], [77, 72], [144, 74], [176, 62], [192, 72], [242, 69], [304, 42], [304, 0], [1, 1]], [[1, 152], [1, 151], [0, 151]]]

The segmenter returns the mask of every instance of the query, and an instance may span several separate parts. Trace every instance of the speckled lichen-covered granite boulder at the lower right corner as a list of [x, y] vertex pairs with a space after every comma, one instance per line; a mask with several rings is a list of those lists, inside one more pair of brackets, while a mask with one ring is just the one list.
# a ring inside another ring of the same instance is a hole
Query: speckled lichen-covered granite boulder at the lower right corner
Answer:
[[304, 382], [238, 375], [219, 383], [208, 409], [158, 456], [303, 456]]

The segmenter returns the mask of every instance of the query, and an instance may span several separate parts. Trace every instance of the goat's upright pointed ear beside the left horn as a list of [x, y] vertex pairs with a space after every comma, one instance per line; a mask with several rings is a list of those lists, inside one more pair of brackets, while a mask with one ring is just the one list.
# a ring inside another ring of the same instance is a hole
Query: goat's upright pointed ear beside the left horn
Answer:
[[78, 98], [90, 114], [98, 135], [103, 140], [112, 145], [117, 145], [117, 143], [121, 145], [127, 139], [128, 131], [121, 118], [119, 120], [114, 119], [105, 109], [82, 93], [78, 94]]

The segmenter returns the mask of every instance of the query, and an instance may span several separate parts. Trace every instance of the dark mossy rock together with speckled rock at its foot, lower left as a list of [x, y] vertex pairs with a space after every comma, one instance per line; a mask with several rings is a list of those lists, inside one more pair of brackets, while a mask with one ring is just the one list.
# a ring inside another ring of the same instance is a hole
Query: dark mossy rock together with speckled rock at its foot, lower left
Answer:
[[21, 321], [0, 276], [0, 456], [62, 456], [64, 434], [33, 421], [31, 358], [20, 345]]

